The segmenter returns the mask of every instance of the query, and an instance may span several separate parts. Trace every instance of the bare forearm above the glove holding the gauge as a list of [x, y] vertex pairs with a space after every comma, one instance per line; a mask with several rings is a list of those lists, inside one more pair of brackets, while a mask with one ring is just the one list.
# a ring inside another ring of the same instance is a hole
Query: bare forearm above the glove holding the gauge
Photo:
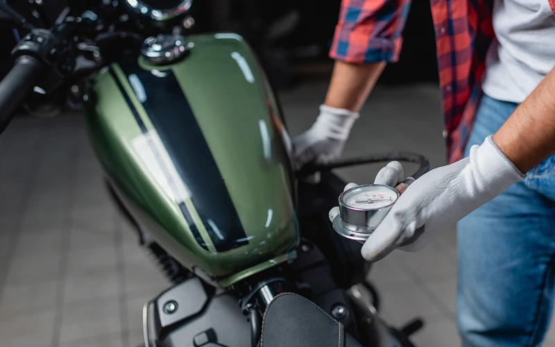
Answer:
[[524, 173], [555, 152], [555, 68], [497, 130], [493, 141]]

